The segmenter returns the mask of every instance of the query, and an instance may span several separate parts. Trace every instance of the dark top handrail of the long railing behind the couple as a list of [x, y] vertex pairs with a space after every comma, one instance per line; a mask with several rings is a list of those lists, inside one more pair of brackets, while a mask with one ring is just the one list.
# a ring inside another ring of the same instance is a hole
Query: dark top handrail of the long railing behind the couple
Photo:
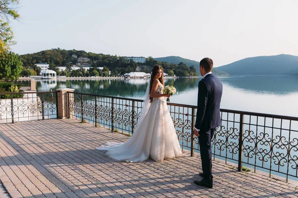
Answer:
[[[115, 97], [115, 96], [107, 96], [107, 95], [86, 94], [86, 93], [72, 92], [72, 91], [70, 91], [70, 93], [82, 94], [82, 95], [87, 95], [87, 96], [107, 97], [107, 98], [112, 98], [112, 99], [127, 99], [127, 100], [139, 101], [139, 102], [144, 101], [143, 99], [131, 99], [131, 98], [123, 98], [123, 97]], [[172, 103], [172, 102], [167, 102], [167, 104], [175, 105], [175, 106], [189, 107], [189, 108], [197, 108], [196, 105], [190, 105], [190, 104], [178, 104], [178, 103]], [[231, 109], [224, 109], [224, 108], [221, 108], [221, 111], [226, 112], [226, 113], [236, 113], [236, 114], [253, 115], [253, 116], [260, 116], [260, 117], [278, 118], [278, 119], [298, 121], [298, 117], [287, 116], [287, 115], [276, 115], [276, 114], [257, 113], [257, 112], [250, 112], [250, 111], [239, 111], [239, 110], [231, 110]]]

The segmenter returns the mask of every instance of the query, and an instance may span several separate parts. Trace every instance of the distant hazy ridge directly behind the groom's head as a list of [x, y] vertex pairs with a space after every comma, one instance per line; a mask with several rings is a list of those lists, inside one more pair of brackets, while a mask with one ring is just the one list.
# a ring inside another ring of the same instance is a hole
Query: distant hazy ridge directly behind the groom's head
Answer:
[[[168, 63], [174, 63], [174, 64], [179, 64], [180, 62], [184, 62], [188, 67], [190, 66], [195, 66], [197, 73], [200, 74], [200, 62], [195, 61], [195, 60], [190, 60], [187, 58], [182, 58], [180, 56], [166, 56], [166, 57], [159, 57], [159, 58], [154, 58], [155, 60], [158, 60], [160, 62], [168, 62]], [[226, 76], [228, 75], [226, 72], [223, 71], [218, 71], [217, 69], [213, 69], [212, 72], [215, 75], [222, 75], [222, 76]]]

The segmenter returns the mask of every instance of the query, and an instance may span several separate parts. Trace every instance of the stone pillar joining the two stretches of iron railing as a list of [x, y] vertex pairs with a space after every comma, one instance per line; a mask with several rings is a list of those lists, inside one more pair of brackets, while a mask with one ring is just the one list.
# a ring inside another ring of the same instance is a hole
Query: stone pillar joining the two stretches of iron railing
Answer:
[[[69, 108], [68, 108], [68, 96], [67, 92], [74, 92], [74, 89], [70, 88], [62, 88], [57, 89], [58, 91], [58, 118], [65, 119], [65, 118], [74, 118], [74, 116], [69, 115]], [[74, 93], [70, 94], [70, 100], [74, 99]], [[74, 113], [70, 113], [74, 115]]]

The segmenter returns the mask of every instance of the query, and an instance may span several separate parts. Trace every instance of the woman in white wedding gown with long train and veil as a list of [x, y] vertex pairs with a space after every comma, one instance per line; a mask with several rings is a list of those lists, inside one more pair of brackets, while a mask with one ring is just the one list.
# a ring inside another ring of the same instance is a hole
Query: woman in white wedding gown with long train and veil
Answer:
[[144, 161], [151, 158], [157, 162], [181, 155], [181, 149], [163, 94], [163, 70], [154, 65], [147, 86], [142, 114], [132, 137], [126, 143], [106, 143], [98, 150], [118, 161]]

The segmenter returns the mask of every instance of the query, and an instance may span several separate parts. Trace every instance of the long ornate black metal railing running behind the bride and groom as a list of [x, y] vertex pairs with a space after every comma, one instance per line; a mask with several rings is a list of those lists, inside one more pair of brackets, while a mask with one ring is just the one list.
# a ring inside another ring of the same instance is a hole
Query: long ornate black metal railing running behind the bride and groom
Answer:
[[[68, 93], [69, 117], [96, 127], [133, 134], [142, 101], [83, 93]], [[167, 103], [182, 149], [199, 152], [193, 135], [197, 106]], [[214, 159], [298, 179], [298, 117], [221, 109], [222, 125], [212, 140]]]

